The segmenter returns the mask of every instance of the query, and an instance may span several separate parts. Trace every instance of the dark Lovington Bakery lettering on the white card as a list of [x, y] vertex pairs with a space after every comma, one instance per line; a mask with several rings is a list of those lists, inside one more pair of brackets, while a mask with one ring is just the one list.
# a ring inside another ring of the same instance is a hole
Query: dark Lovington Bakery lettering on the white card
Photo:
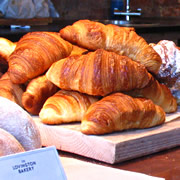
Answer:
[[35, 166], [36, 166], [36, 161], [26, 162], [25, 160], [22, 160], [21, 164], [12, 166], [12, 169], [21, 174], [21, 173], [33, 171]]

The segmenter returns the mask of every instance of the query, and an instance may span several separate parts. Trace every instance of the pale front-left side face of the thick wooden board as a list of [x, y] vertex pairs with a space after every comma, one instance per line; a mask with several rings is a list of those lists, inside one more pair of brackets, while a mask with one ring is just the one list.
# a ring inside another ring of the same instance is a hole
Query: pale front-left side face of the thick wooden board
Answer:
[[[88, 158], [112, 164], [115, 155], [115, 144], [94, 135], [85, 135], [81, 132], [74, 132], [70, 129], [55, 128], [36, 122], [43, 146], [54, 145], [58, 150], [75, 153]], [[52, 136], [52, 133], [54, 134]], [[58, 140], [57, 140], [58, 139]], [[96, 147], [96, 148], [94, 148]]]

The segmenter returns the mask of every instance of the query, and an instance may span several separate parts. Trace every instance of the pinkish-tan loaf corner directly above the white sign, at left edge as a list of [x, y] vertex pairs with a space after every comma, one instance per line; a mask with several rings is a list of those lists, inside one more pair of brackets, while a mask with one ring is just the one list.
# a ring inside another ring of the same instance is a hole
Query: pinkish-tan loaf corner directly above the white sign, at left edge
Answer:
[[0, 156], [24, 152], [23, 146], [9, 132], [0, 128]]

